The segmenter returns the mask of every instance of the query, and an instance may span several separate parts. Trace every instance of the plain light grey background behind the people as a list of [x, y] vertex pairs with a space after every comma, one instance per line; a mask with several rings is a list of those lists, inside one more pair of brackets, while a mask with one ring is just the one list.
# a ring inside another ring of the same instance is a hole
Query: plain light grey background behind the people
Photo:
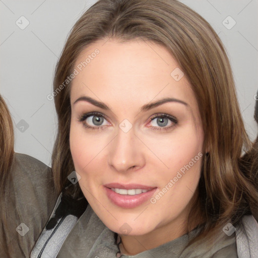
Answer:
[[[54, 67], [72, 26], [95, 2], [0, 0], [0, 93], [13, 116], [15, 151], [47, 165], [56, 132], [54, 103], [47, 99], [52, 93]], [[258, 0], [181, 2], [203, 16], [222, 39], [231, 61], [246, 130], [254, 140], [258, 132], [253, 119], [258, 90]], [[21, 16], [29, 21], [23, 30], [20, 27], [26, 25], [26, 20]], [[234, 21], [235, 26], [228, 29]]]

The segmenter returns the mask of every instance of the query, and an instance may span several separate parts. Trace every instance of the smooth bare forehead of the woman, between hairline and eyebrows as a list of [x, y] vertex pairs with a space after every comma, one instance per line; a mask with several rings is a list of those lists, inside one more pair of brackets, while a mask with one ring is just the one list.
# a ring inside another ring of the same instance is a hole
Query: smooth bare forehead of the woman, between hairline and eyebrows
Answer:
[[173, 71], [180, 77], [182, 72], [170, 52], [150, 41], [99, 40], [80, 53], [74, 67], [78, 75], [71, 101], [81, 95], [142, 104], [168, 96], [183, 101], [193, 97], [185, 76], [175, 80]]

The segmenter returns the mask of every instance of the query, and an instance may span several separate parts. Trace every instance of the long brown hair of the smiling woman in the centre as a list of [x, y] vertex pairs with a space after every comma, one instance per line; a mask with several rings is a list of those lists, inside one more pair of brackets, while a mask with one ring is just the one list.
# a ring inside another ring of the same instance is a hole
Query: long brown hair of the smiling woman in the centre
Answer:
[[[54, 91], [69, 77], [82, 50], [97, 40], [146, 40], [168, 49], [195, 92], [205, 133], [202, 176], [192, 202], [188, 229], [195, 218], [205, 220], [200, 236], [212, 235], [230, 220], [238, 223], [258, 202], [241, 153], [249, 151], [223, 44], [210, 24], [195, 11], [175, 0], [100, 0], [74, 25], [58, 60]], [[52, 169], [58, 191], [74, 170], [70, 152], [71, 83], [55, 96], [58, 134]], [[75, 196], [82, 195], [77, 185]], [[196, 209], [197, 204], [201, 207]], [[198, 238], [196, 238], [197, 240]]]

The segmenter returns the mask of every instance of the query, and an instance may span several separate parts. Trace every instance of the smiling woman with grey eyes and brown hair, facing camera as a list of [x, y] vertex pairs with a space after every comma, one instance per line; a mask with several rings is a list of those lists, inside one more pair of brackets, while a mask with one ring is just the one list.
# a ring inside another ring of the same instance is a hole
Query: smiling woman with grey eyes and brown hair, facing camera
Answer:
[[53, 97], [63, 193], [31, 257], [257, 256], [251, 144], [200, 15], [174, 0], [100, 0], [71, 31]]

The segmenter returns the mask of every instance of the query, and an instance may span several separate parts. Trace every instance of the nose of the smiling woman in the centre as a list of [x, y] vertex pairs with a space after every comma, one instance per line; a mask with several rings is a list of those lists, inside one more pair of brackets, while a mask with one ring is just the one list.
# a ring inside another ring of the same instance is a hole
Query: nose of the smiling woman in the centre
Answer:
[[108, 163], [117, 172], [138, 170], [145, 165], [142, 142], [135, 135], [133, 128], [124, 133], [118, 128], [118, 133], [110, 143]]

